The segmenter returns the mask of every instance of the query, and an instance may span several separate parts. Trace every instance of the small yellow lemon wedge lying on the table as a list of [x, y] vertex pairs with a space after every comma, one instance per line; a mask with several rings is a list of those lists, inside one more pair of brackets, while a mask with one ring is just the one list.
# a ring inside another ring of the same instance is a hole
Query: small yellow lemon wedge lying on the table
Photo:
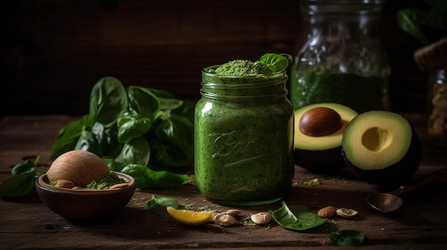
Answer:
[[194, 212], [186, 209], [174, 209], [174, 207], [166, 207], [166, 209], [177, 222], [189, 226], [203, 225], [209, 222], [209, 219], [213, 216], [213, 212], [211, 211]]

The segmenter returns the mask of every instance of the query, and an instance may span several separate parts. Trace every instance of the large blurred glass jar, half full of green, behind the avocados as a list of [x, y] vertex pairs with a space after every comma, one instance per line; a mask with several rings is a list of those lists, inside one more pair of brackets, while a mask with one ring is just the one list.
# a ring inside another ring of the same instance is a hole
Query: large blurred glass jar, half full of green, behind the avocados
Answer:
[[378, 38], [383, 0], [300, 0], [307, 31], [291, 67], [293, 108], [340, 103], [389, 110], [390, 68]]

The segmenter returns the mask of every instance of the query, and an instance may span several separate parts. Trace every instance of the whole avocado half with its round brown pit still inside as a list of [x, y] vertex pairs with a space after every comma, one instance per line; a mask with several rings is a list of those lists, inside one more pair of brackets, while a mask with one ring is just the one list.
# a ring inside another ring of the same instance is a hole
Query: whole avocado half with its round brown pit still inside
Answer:
[[295, 110], [295, 164], [330, 174], [346, 167], [343, 132], [358, 113], [338, 103], [316, 103]]

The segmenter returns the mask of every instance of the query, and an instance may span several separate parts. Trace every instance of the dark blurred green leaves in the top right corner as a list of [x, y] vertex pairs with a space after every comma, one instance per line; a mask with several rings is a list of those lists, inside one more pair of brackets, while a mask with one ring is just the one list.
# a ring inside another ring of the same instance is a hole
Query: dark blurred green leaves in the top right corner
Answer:
[[429, 6], [397, 11], [398, 26], [424, 46], [447, 35], [447, 1], [424, 0]]

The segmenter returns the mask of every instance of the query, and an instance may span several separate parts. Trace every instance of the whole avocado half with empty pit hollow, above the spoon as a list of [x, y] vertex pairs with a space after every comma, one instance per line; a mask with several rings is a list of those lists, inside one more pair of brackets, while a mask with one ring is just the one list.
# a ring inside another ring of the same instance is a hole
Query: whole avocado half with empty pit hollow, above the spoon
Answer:
[[383, 187], [406, 184], [421, 163], [421, 144], [406, 118], [368, 111], [354, 118], [343, 135], [342, 155], [354, 175]]

